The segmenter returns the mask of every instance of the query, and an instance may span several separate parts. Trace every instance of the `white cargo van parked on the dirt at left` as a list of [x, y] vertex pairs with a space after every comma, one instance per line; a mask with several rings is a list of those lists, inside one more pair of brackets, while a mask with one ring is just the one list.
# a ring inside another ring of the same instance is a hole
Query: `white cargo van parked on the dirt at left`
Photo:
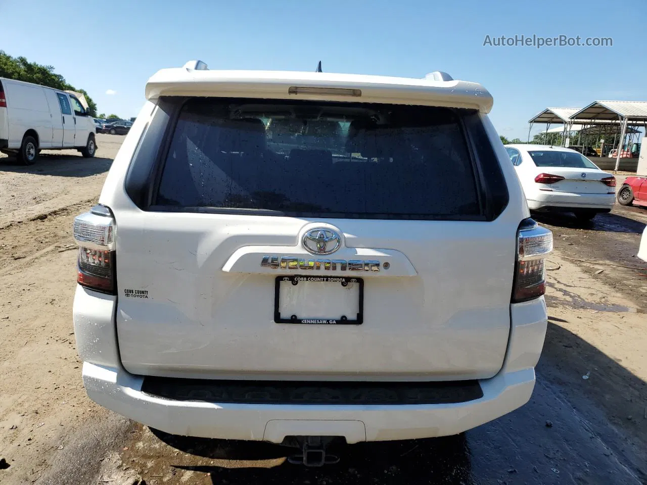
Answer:
[[41, 149], [76, 148], [96, 152], [94, 120], [69, 92], [0, 78], [0, 151], [17, 155], [25, 165]]

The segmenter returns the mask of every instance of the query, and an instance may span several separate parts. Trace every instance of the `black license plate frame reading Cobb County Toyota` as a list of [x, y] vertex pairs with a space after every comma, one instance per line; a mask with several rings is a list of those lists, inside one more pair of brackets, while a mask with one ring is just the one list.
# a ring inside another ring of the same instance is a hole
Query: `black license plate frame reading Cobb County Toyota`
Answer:
[[[349, 316], [342, 316], [342, 318], [313, 318], [303, 317], [299, 318], [296, 315], [291, 315], [285, 318], [281, 315], [281, 282], [290, 282], [292, 285], [298, 285], [300, 282], [304, 283], [337, 283], [341, 286], [347, 286], [349, 283], [356, 283], [358, 285], [358, 312], [354, 319]], [[277, 276], [274, 280], [274, 322], [276, 323], [292, 323], [302, 325], [362, 325], [364, 323], [364, 279], [349, 276], [313, 276], [313, 275], [283, 275]]]

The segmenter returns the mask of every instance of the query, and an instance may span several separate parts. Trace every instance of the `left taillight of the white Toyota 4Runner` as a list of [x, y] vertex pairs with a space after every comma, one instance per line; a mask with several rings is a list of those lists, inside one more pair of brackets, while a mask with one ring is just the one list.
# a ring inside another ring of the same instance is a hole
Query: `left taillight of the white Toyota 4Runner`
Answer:
[[79, 285], [116, 295], [115, 231], [115, 218], [105, 206], [94, 206], [74, 219], [74, 239], [79, 245]]

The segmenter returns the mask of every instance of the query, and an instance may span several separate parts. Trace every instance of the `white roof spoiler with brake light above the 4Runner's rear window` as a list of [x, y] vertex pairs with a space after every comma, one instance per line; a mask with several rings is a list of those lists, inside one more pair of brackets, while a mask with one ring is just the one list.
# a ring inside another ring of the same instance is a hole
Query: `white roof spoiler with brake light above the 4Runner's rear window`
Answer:
[[160, 96], [298, 99], [393, 103], [477, 109], [489, 113], [492, 96], [479, 83], [444, 72], [423, 79], [271, 70], [210, 70], [202, 61], [162, 69], [146, 83], [146, 99]]

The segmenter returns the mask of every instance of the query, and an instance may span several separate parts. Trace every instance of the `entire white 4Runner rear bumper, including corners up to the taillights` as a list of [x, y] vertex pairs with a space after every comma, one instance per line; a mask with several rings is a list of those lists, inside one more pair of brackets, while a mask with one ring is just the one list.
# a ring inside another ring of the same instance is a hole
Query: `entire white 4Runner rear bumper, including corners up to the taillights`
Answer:
[[461, 433], [525, 404], [546, 332], [543, 297], [510, 305], [503, 367], [479, 381], [483, 396], [450, 404], [232, 404], [173, 400], [142, 391], [117, 352], [116, 297], [78, 286], [74, 330], [89, 397], [148, 426], [175, 435], [281, 442], [286, 436], [343, 436], [347, 442], [404, 440]]

